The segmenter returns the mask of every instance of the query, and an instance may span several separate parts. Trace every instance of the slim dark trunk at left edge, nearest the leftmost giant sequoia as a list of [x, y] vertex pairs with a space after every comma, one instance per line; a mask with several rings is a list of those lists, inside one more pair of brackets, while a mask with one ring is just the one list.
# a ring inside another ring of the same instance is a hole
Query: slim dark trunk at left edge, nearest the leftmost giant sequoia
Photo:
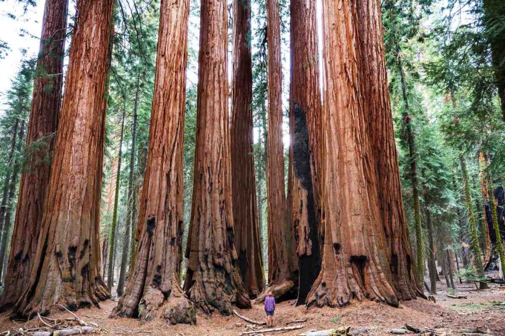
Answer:
[[[19, 122], [19, 140], [17, 141], [17, 152], [21, 153], [21, 143], [23, 142], [25, 137], [25, 121], [21, 120]], [[5, 274], [5, 260], [6, 259], [6, 249], [7, 249], [7, 239], [9, 238], [9, 233], [11, 232], [11, 216], [14, 207], [14, 196], [16, 194], [16, 188], [18, 186], [18, 177], [19, 177], [19, 168], [20, 162], [15, 160], [12, 166], [12, 179], [9, 183], [9, 195], [7, 197], [7, 211], [5, 215], [4, 222], [4, 234], [2, 235], [2, 241], [0, 242], [0, 282], [4, 282]], [[11, 240], [12, 241], [12, 240]]]

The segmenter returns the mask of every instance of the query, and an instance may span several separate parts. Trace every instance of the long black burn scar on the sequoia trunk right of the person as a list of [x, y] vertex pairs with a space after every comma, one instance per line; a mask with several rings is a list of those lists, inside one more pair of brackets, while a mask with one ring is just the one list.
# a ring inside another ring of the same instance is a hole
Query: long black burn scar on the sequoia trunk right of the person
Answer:
[[298, 258], [298, 299], [296, 305], [305, 304], [312, 284], [321, 271], [321, 251], [319, 249], [318, 217], [314, 203], [314, 188], [312, 185], [311, 155], [309, 147], [309, 129], [307, 127], [307, 112], [293, 102], [294, 139], [293, 139], [293, 171], [301, 186], [307, 190], [307, 219], [309, 223], [309, 238], [312, 242], [310, 255], [300, 255]]

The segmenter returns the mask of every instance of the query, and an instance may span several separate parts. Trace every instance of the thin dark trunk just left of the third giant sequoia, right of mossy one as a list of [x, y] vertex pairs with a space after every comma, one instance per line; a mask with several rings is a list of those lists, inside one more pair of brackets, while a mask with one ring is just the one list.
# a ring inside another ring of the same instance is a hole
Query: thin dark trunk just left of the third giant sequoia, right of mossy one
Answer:
[[[128, 175], [128, 196], [126, 200], [126, 222], [125, 222], [125, 237], [123, 242], [123, 253], [121, 253], [121, 268], [119, 270], [119, 281], [118, 281], [118, 296], [123, 295], [123, 288], [126, 279], [126, 263], [128, 262], [128, 247], [130, 246], [130, 234], [133, 227], [133, 221], [135, 218], [133, 214], [136, 207], [136, 199], [133, 198], [134, 194], [134, 180], [133, 175], [135, 173], [135, 141], [137, 137], [137, 112], [138, 112], [138, 99], [140, 93], [140, 75], [137, 75], [137, 84], [135, 86], [135, 100], [133, 104], [133, 124], [131, 126], [131, 147], [130, 147], [130, 166]], [[131, 270], [132, 268], [130, 268]]]

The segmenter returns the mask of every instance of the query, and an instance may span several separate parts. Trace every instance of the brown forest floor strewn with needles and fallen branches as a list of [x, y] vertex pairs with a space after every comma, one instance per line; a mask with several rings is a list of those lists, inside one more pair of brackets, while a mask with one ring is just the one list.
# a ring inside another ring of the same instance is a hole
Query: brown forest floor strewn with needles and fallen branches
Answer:
[[[391, 329], [402, 328], [405, 323], [417, 327], [436, 329], [437, 334], [462, 335], [472, 328], [473, 332], [492, 335], [505, 335], [505, 285], [490, 284], [487, 290], [479, 291], [473, 284], [457, 279], [456, 292], [452, 295], [464, 295], [466, 299], [453, 299], [447, 297], [447, 287], [443, 281], [437, 283], [436, 303], [419, 298], [417, 300], [401, 302], [399, 308], [375, 302], [356, 302], [345, 308], [309, 308], [294, 306], [294, 301], [285, 301], [277, 304], [275, 312], [275, 326], [299, 325], [304, 327], [297, 330], [278, 331], [265, 333], [269, 335], [299, 335], [304, 331], [323, 330], [350, 326], [352, 329], [364, 328], [362, 335], [390, 334]], [[237, 316], [206, 315], [197, 313], [196, 325], [169, 325], [164, 321], [156, 320], [140, 323], [133, 318], [109, 318], [109, 314], [116, 302], [108, 300], [100, 304], [100, 308], [81, 309], [76, 315], [87, 322], [98, 324], [97, 334], [136, 334], [148, 335], [239, 335], [243, 331], [262, 329], [265, 326], [251, 325]], [[249, 310], [238, 310], [241, 315], [263, 321], [263, 305], [256, 304]], [[51, 317], [72, 317], [68, 312], [55, 312]], [[294, 322], [304, 320], [304, 322]], [[19, 325], [11, 321], [7, 313], [0, 314], [0, 332], [13, 330]], [[22, 323], [17, 321], [17, 323]], [[30, 322], [31, 323], [31, 322]], [[39, 323], [35, 321], [33, 323]], [[40, 324], [40, 323], [39, 323]], [[351, 329], [351, 330], [352, 330]], [[258, 333], [261, 334], [261, 333]], [[414, 335], [412, 332], [407, 334]]]

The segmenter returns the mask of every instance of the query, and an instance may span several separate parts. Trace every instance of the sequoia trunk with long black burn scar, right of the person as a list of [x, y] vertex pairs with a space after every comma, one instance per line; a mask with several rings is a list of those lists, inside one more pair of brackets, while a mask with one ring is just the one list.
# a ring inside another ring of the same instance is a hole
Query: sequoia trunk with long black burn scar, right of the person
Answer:
[[298, 254], [298, 299], [304, 304], [321, 271], [321, 96], [316, 2], [290, 3], [290, 156], [292, 227]]

